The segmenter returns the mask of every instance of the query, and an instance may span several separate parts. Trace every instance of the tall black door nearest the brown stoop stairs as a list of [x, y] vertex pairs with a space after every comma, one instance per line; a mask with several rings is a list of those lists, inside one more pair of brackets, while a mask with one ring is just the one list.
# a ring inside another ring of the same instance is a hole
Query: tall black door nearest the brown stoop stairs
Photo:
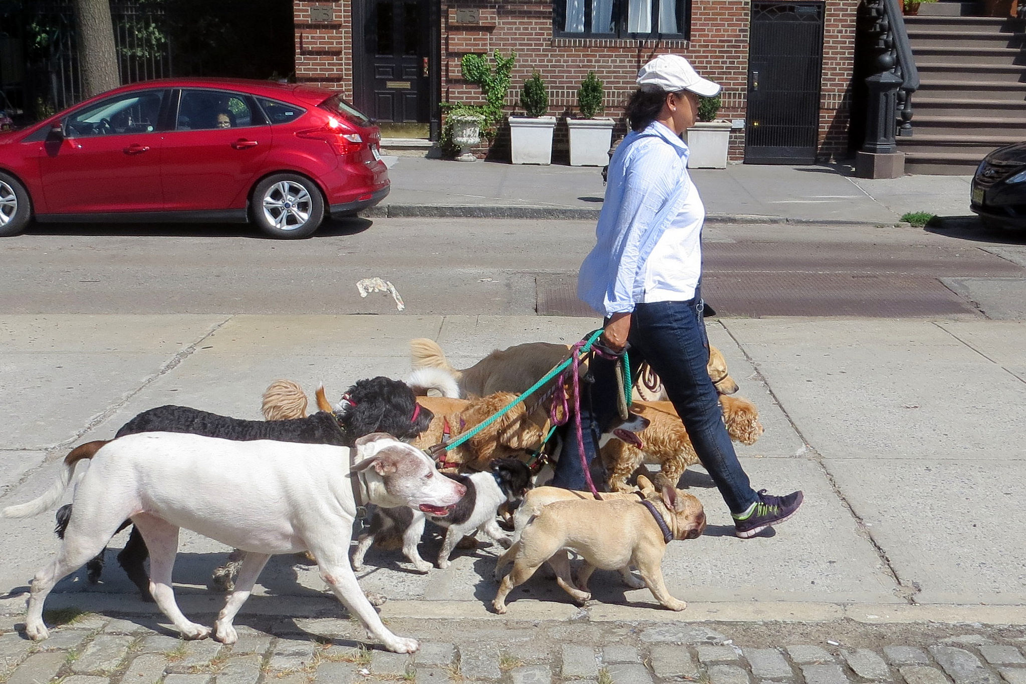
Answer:
[[820, 127], [822, 2], [752, 2], [745, 162], [812, 164]]

